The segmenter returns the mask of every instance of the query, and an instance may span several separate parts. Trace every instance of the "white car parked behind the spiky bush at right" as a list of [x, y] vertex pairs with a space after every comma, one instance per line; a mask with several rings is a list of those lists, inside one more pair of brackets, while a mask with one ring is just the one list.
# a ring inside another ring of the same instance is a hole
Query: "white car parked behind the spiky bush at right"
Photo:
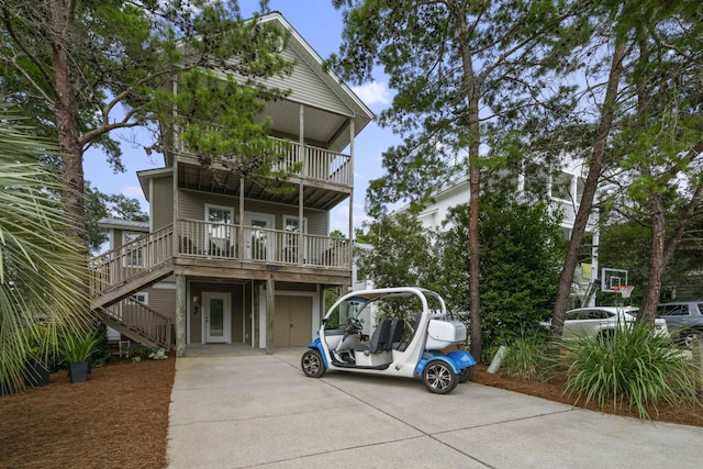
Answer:
[[[639, 309], [633, 306], [592, 306], [567, 311], [563, 337], [590, 336], [606, 338], [615, 328], [632, 325]], [[655, 333], [669, 335], [667, 322], [655, 320]]]

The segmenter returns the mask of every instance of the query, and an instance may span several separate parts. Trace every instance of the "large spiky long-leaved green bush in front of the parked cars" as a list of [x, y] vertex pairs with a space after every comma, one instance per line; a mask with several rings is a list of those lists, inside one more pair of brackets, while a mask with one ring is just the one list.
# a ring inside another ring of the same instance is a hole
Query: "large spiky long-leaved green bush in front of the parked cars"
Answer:
[[700, 371], [668, 337], [652, 334], [646, 324], [617, 328], [603, 339], [563, 340], [561, 347], [565, 392], [576, 394], [576, 402], [595, 400], [604, 409], [612, 399], [615, 407], [635, 406], [640, 418], [651, 418], [649, 406], [696, 399]]

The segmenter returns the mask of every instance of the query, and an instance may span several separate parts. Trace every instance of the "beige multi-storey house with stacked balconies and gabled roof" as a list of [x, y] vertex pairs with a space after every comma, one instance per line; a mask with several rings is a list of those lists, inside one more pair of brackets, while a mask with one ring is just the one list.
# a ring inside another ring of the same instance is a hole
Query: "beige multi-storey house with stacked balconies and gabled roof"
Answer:
[[291, 93], [265, 111], [271, 138], [290, 142], [287, 161], [303, 164], [270, 180], [290, 190], [213, 175], [197, 155], [169, 152], [163, 168], [137, 172], [148, 228], [103, 220], [112, 249], [91, 261], [92, 306], [103, 321], [145, 345], [175, 344], [178, 356], [188, 344], [306, 345], [324, 290], [353, 286], [353, 246], [328, 236], [330, 211], [352, 198], [354, 139], [373, 115], [280, 13], [260, 21], [291, 32], [281, 53], [294, 70], [269, 79]]

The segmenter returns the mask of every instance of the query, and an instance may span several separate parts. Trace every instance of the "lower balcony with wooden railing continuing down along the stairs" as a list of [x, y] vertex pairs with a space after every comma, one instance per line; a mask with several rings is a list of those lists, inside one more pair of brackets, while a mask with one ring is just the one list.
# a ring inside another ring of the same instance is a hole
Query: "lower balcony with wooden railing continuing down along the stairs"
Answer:
[[194, 276], [214, 271], [230, 278], [264, 278], [276, 271], [302, 282], [308, 277], [332, 282], [348, 280], [352, 245], [349, 239], [293, 231], [178, 220], [92, 258], [89, 265], [93, 295], [164, 266], [171, 272], [188, 266]]

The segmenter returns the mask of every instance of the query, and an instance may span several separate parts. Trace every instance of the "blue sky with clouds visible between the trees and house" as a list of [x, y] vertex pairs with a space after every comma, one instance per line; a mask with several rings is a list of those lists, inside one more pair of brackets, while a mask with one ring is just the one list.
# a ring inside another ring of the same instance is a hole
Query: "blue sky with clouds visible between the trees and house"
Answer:
[[[245, 16], [258, 10], [258, 0], [239, 1]], [[323, 59], [338, 51], [342, 42], [342, 13], [332, 7], [332, 0], [271, 0], [269, 7], [274, 11], [279, 11]], [[377, 114], [390, 104], [391, 92], [380, 74], [377, 81], [353, 87], [353, 90]], [[148, 157], [143, 148], [133, 147], [129, 141], [140, 138], [133, 131], [118, 132], [114, 136], [125, 139], [122, 142], [122, 159], [126, 171], [113, 174], [101, 155], [89, 152], [83, 164], [86, 179], [102, 192], [122, 193], [138, 199], [146, 211], [148, 205], [136, 178], [136, 171], [161, 167], [163, 158]], [[355, 142], [354, 225], [356, 227], [361, 226], [366, 219], [364, 204], [368, 182], [382, 175], [381, 154], [398, 141], [390, 130], [382, 130], [371, 123]], [[348, 203], [345, 202], [332, 212], [331, 231], [339, 230], [347, 233], [348, 210]]]

